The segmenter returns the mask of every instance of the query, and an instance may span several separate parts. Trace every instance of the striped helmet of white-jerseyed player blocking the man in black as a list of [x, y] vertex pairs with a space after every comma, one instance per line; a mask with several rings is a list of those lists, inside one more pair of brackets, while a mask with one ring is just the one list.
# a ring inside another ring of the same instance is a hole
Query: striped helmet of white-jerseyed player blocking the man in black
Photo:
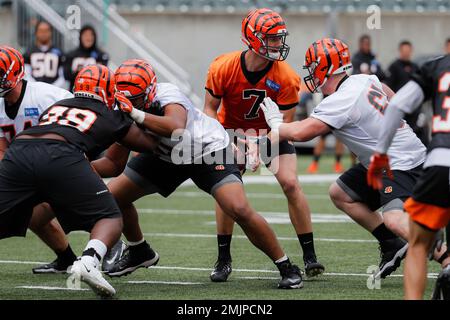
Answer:
[[156, 95], [156, 74], [152, 66], [141, 59], [123, 62], [115, 73], [117, 90], [138, 109], [150, 107]]

